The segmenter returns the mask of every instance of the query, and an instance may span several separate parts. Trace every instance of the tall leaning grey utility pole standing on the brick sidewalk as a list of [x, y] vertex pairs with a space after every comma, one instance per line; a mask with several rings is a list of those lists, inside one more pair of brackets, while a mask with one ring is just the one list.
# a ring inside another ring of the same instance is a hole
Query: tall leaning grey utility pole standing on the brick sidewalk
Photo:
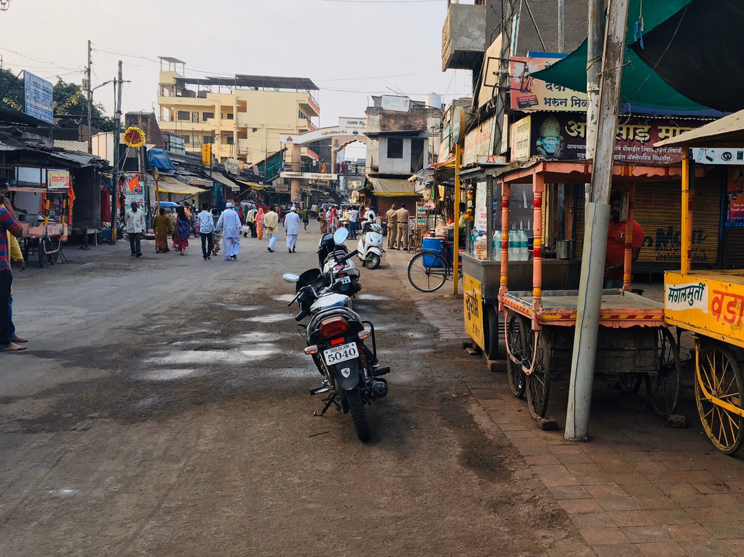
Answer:
[[568, 410], [565, 416], [565, 439], [589, 439], [591, 387], [594, 382], [594, 360], [600, 328], [600, 306], [604, 279], [607, 226], [609, 224], [609, 191], [612, 187], [612, 161], [615, 152], [615, 130], [618, 128], [620, 79], [625, 52], [625, 29], [629, 0], [609, 0], [607, 34], [600, 80], [600, 110], [591, 171], [591, 197], [586, 206], [584, 249], [581, 256], [579, 305], [571, 357], [571, 383], [568, 387]]

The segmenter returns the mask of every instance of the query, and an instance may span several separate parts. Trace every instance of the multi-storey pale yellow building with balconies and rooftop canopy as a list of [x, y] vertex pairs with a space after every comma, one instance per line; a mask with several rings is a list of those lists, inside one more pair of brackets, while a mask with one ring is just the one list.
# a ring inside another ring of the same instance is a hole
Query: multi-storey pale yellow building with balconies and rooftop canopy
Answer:
[[160, 60], [159, 124], [164, 132], [183, 136], [187, 151], [200, 152], [202, 144], [211, 143], [219, 162], [256, 164], [281, 149], [280, 134], [316, 128], [312, 118], [320, 116], [320, 108], [313, 94], [318, 87], [305, 77], [239, 74], [194, 79], [183, 76], [181, 60]]

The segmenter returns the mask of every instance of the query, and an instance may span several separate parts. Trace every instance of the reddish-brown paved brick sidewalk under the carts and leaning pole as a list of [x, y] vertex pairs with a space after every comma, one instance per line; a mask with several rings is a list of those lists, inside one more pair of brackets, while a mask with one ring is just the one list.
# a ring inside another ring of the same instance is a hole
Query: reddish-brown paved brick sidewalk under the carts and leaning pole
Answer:
[[[452, 296], [450, 283], [429, 294], [410, 287], [410, 258], [393, 252], [388, 264], [440, 337], [463, 339], [461, 297]], [[548, 414], [559, 425], [554, 432], [537, 429], [504, 374], [484, 366], [483, 381], [472, 393], [598, 557], [744, 556], [743, 455], [725, 456], [708, 442], [689, 366], [677, 410], [690, 422], [688, 429], [668, 427], [644, 410], [641, 395], [635, 399], [640, 410], [620, 408], [620, 392], [597, 377], [587, 443], [563, 437], [568, 379], [562, 379], [551, 383]]]

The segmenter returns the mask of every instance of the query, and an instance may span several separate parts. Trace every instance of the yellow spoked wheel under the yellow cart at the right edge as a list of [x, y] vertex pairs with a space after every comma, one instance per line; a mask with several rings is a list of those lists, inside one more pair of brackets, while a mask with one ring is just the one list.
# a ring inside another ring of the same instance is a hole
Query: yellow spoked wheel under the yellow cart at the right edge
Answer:
[[709, 394], [736, 408], [742, 407], [744, 381], [736, 357], [725, 346], [714, 344], [698, 355], [695, 378], [695, 402], [700, 421], [713, 447], [725, 454], [734, 454], [744, 441], [744, 418], [705, 398]]

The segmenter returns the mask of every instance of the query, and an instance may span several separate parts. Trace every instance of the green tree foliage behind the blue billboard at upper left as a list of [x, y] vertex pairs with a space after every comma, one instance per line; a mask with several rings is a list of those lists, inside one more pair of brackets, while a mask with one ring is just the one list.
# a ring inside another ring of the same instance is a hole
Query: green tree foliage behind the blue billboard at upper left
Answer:
[[[68, 83], [57, 77], [52, 87], [54, 95], [54, 124], [63, 128], [76, 128], [88, 124], [88, 98], [83, 89], [75, 83]], [[6, 108], [23, 112], [23, 73], [16, 75], [13, 71], [0, 71], [0, 103]], [[106, 116], [100, 103], [91, 106], [93, 127], [110, 132], [114, 129], [114, 118]]]

